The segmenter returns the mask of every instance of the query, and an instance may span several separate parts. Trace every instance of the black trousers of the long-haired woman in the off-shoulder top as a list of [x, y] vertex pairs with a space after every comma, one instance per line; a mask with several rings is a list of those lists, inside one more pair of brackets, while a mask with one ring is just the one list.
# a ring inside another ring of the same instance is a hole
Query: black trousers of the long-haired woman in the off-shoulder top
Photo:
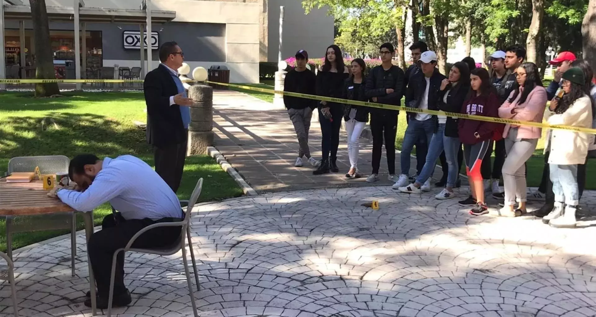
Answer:
[[321, 124], [321, 152], [322, 160], [328, 162], [336, 162], [337, 148], [339, 147], [339, 130], [342, 128], [343, 108], [338, 105], [331, 105], [331, 118], [333, 121], [326, 119], [319, 109], [319, 123]]

